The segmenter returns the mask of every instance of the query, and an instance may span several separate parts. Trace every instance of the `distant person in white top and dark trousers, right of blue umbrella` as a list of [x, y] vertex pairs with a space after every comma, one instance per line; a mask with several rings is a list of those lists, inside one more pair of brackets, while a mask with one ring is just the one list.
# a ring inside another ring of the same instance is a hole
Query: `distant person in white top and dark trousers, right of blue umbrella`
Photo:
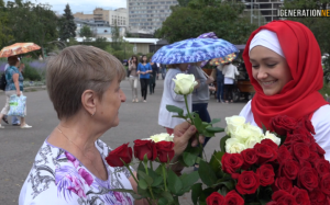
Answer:
[[231, 62], [224, 64], [222, 73], [224, 76], [224, 89], [226, 89], [226, 103], [233, 102], [233, 88], [235, 83], [235, 76], [239, 76], [240, 72], [238, 68]]

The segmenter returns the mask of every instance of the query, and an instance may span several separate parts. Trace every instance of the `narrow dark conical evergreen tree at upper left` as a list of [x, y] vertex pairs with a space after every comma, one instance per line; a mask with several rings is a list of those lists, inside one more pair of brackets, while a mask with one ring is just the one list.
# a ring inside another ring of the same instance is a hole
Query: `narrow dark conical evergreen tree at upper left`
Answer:
[[74, 15], [70, 5], [67, 3], [64, 10], [63, 18], [59, 21], [59, 38], [66, 41], [70, 37], [76, 37], [77, 25], [74, 22]]

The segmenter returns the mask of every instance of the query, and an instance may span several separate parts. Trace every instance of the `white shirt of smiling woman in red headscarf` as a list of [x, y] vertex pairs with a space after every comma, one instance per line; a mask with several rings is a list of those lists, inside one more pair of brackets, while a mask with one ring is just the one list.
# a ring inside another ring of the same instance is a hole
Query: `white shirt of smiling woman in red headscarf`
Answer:
[[[257, 126], [254, 122], [253, 113], [251, 110], [251, 101], [243, 107], [240, 116], [245, 117], [246, 123]], [[326, 159], [330, 160], [330, 105], [323, 105], [319, 107], [311, 117], [311, 124], [314, 125], [316, 135], [314, 138], [321, 148], [326, 151]]]

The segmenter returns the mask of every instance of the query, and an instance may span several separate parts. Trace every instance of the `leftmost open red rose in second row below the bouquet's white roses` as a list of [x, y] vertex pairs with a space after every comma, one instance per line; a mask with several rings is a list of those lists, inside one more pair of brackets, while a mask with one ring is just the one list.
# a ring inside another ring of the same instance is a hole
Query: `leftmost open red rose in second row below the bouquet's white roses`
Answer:
[[253, 171], [243, 171], [237, 184], [237, 190], [240, 194], [254, 194], [260, 186], [260, 179]]

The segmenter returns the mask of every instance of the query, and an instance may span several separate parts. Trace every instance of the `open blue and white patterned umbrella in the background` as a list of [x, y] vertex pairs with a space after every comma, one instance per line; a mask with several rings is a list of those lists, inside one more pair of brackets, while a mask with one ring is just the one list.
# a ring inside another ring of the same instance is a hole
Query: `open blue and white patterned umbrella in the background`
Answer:
[[235, 46], [218, 38], [189, 38], [163, 46], [152, 61], [158, 64], [189, 64], [224, 57], [238, 53]]

